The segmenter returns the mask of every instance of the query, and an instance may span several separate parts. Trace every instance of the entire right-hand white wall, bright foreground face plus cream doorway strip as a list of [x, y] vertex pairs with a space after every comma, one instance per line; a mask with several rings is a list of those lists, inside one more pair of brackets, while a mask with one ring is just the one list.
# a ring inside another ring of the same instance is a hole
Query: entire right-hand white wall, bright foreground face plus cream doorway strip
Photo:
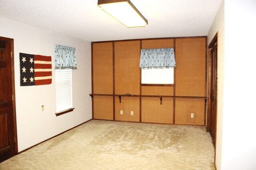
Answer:
[[208, 33], [219, 31], [217, 170], [256, 169], [255, 9], [255, 0], [224, 0]]

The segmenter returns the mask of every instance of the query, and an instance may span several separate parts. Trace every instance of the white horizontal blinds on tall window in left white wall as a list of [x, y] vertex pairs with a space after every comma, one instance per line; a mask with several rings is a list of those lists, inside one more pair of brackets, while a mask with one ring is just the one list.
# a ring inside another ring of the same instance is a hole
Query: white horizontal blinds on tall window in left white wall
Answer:
[[55, 70], [56, 112], [72, 108], [72, 69]]

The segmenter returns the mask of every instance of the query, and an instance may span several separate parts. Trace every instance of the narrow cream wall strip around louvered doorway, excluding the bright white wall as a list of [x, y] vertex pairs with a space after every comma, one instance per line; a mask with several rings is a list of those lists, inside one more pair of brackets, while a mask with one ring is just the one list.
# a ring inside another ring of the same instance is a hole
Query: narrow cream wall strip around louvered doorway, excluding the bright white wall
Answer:
[[208, 45], [218, 32], [218, 100], [217, 100], [217, 132], [216, 132], [216, 168], [221, 166], [222, 151], [222, 115], [223, 115], [223, 87], [224, 87], [224, 1], [220, 4], [218, 12], [208, 33]]

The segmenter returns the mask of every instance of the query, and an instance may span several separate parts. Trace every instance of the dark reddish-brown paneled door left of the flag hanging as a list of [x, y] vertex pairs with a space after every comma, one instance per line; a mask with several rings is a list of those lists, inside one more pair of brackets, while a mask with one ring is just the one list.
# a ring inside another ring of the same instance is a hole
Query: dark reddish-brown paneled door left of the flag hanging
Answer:
[[[13, 108], [13, 86], [11, 59], [13, 41], [0, 37], [0, 162], [17, 153], [16, 121]], [[14, 137], [15, 136], [15, 137]]]

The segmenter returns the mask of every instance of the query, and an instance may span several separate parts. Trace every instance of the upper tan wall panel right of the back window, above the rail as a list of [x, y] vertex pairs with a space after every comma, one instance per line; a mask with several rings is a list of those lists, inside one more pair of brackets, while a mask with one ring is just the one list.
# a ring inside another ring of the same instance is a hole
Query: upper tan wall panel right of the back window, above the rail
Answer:
[[176, 96], [205, 96], [205, 38], [176, 39]]

